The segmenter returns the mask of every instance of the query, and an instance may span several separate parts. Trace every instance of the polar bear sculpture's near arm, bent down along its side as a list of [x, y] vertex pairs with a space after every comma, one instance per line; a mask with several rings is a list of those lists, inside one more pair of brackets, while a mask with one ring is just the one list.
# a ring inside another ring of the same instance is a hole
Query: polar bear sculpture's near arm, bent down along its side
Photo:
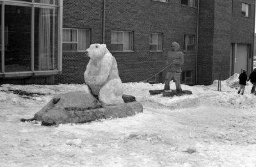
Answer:
[[112, 68], [113, 57], [110, 52], [106, 53], [100, 63], [99, 76], [95, 77], [95, 84], [103, 84], [109, 76]]

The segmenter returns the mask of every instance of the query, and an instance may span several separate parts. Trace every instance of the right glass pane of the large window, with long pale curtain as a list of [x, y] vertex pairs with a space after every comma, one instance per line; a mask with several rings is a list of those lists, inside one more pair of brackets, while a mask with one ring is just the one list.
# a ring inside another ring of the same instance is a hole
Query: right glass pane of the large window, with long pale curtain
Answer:
[[[72, 33], [71, 33], [72, 34]], [[58, 69], [58, 10], [35, 8], [35, 70]]]

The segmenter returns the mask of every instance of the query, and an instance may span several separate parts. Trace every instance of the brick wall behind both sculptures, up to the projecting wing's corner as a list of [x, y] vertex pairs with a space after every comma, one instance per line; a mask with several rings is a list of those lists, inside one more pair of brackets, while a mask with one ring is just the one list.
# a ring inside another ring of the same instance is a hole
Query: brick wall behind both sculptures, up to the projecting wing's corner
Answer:
[[[101, 44], [102, 4], [102, 0], [64, 0], [63, 28], [90, 28], [92, 44]], [[183, 49], [184, 35], [196, 36], [196, 12], [196, 8], [181, 6], [180, 1], [106, 1], [105, 43], [109, 51], [112, 30], [134, 32], [133, 52], [112, 52], [122, 81], [143, 81], [164, 68], [165, 51], [170, 51], [171, 42], [178, 42]], [[164, 52], [149, 51], [150, 32], [163, 33]], [[195, 51], [184, 52], [184, 59], [182, 70], [195, 73]], [[83, 83], [87, 63], [88, 58], [81, 52], [63, 52], [63, 72], [55, 77], [55, 82]]]

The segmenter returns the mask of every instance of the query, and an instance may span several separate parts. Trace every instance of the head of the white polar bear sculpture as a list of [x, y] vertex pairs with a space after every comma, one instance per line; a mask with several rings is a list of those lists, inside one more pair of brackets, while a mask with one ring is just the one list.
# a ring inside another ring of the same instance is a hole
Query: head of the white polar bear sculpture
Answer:
[[92, 44], [86, 49], [85, 55], [89, 56], [92, 60], [100, 60], [108, 52], [106, 44]]

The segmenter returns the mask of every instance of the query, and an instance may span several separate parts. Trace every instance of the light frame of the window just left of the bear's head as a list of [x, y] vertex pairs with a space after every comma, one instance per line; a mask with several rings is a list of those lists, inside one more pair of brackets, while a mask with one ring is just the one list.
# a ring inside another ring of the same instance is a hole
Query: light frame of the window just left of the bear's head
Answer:
[[[62, 46], [62, 52], [85, 52], [86, 51], [86, 49], [85, 50], [79, 50], [78, 49], [78, 45], [79, 45], [79, 42], [78, 42], [78, 38], [79, 38], [79, 29], [83, 29], [83, 30], [88, 30], [89, 31], [89, 41], [90, 41], [90, 44], [91, 44], [91, 29], [89, 29], [89, 28], [63, 28], [63, 30], [64, 29], [68, 29], [68, 30], [76, 30], [76, 42], [64, 42], [63, 40], [62, 40], [62, 45], [63, 44], [77, 44], [76, 45], [76, 51], [64, 51], [63, 50], [63, 46]], [[90, 44], [89, 44], [89, 46], [90, 46]]]

